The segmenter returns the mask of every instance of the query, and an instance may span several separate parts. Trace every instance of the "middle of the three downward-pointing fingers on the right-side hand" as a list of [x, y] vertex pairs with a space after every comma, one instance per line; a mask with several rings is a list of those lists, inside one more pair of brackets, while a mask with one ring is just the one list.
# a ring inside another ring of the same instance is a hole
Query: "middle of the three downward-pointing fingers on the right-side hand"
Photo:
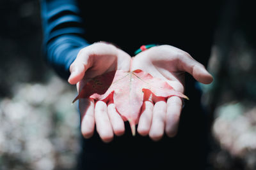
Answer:
[[157, 101], [153, 109], [152, 125], [149, 131], [149, 136], [154, 141], [157, 141], [163, 137], [165, 116], [166, 116], [166, 102]]

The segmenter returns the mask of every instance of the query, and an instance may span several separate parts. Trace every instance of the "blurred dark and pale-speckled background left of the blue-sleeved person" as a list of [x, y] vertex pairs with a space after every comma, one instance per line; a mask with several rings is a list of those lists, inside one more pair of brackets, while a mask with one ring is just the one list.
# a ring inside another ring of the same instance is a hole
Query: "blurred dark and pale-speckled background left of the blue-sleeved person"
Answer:
[[41, 55], [39, 1], [0, 1], [0, 170], [75, 169], [76, 88]]

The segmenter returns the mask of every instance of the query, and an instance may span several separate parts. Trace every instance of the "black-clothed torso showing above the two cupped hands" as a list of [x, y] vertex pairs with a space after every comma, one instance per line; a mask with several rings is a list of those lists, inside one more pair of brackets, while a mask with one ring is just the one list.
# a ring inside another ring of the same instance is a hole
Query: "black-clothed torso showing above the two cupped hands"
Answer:
[[[176, 46], [200, 59], [199, 49], [207, 55], [212, 43], [218, 3], [173, 1], [111, 5], [80, 4], [85, 22], [86, 40], [109, 41], [130, 55], [141, 45], [156, 43]], [[204, 56], [202, 62], [206, 64]]]

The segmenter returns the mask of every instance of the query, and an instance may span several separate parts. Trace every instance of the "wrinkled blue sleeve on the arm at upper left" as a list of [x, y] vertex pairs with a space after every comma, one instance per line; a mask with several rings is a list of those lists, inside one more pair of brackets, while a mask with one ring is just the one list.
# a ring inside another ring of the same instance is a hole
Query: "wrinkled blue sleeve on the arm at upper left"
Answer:
[[47, 62], [67, 79], [69, 66], [81, 48], [88, 46], [76, 0], [40, 0], [43, 52]]

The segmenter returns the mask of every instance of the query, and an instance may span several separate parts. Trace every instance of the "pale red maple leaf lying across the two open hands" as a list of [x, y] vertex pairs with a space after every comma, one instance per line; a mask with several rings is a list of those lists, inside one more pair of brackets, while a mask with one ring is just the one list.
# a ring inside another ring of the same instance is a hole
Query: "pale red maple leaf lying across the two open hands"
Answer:
[[77, 99], [89, 97], [96, 101], [108, 102], [109, 97], [113, 97], [116, 110], [124, 121], [129, 121], [134, 136], [144, 96], [150, 96], [150, 94], [156, 97], [179, 96], [188, 99], [184, 94], [175, 91], [166, 81], [136, 69], [135, 71], [111, 71], [93, 78], [84, 85], [73, 103]]

